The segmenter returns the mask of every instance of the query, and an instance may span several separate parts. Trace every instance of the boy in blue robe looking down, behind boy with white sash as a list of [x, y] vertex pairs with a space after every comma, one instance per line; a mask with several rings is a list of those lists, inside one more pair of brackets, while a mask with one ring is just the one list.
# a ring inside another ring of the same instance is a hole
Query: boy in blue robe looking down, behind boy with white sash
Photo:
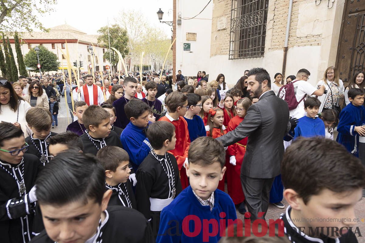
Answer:
[[124, 111], [130, 122], [120, 135], [120, 141], [129, 155], [134, 171], [137, 171], [152, 149], [146, 133], [151, 109], [140, 99], [131, 99], [124, 106]]

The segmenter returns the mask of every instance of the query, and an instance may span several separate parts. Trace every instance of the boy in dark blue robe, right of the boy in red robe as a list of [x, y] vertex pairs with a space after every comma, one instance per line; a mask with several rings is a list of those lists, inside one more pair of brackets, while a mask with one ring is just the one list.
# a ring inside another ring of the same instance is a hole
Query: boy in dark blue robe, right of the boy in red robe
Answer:
[[198, 115], [201, 110], [201, 96], [199, 94], [186, 94], [188, 97], [188, 110], [184, 115], [185, 121], [188, 123], [190, 141], [194, 141], [198, 137], [206, 137], [203, 119]]

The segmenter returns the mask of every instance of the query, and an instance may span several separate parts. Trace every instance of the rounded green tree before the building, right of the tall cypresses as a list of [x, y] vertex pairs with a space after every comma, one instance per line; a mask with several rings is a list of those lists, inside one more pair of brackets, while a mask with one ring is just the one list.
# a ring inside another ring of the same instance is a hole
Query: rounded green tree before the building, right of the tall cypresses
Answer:
[[[49, 72], [49, 71], [58, 71], [59, 62], [57, 61], [57, 55], [53, 52], [49, 51], [44, 46], [39, 47], [39, 64], [41, 64], [42, 72]], [[29, 50], [29, 52], [24, 56], [24, 63], [27, 67], [32, 68], [33, 71], [38, 70], [37, 64], [37, 53], [35, 52], [34, 48]]]

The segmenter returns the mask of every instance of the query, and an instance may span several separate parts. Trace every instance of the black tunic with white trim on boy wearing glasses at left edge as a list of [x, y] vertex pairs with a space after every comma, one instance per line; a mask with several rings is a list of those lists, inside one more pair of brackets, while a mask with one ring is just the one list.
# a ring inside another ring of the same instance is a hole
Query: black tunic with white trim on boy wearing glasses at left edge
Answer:
[[[12, 174], [0, 168], [0, 242], [29, 242], [32, 237], [35, 203], [29, 202], [27, 193], [34, 186], [37, 173], [43, 165], [33, 154], [24, 154], [23, 161], [18, 165], [5, 161], [0, 163]], [[22, 164], [26, 192], [20, 195], [19, 184], [13, 176], [19, 182], [22, 181]]]

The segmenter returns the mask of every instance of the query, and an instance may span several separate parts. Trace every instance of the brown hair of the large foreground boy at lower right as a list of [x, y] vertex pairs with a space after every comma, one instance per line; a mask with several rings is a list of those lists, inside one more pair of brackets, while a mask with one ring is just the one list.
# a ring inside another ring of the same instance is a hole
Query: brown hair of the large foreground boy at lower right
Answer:
[[357, 157], [341, 144], [320, 137], [298, 138], [281, 162], [284, 187], [296, 191], [305, 204], [323, 189], [342, 193], [364, 188], [364, 175]]

